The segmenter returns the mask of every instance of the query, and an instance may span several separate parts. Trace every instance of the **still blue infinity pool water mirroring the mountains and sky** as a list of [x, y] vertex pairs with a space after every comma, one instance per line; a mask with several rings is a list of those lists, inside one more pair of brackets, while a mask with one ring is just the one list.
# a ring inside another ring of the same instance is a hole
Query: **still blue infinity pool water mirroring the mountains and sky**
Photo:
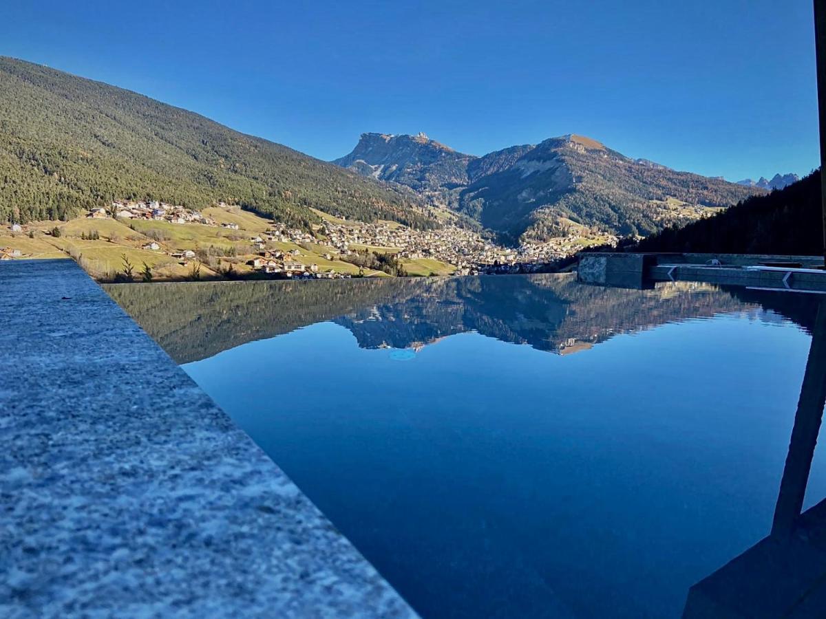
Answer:
[[[766, 537], [819, 295], [112, 286], [424, 617], [680, 617]], [[808, 508], [826, 497], [815, 451]]]

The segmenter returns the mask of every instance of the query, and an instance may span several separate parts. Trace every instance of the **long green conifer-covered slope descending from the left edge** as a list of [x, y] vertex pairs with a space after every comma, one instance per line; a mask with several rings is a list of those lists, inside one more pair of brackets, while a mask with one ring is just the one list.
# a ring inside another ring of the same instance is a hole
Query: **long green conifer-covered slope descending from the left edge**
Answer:
[[0, 221], [65, 219], [116, 199], [226, 201], [288, 224], [310, 208], [434, 227], [403, 187], [240, 134], [190, 111], [0, 57]]

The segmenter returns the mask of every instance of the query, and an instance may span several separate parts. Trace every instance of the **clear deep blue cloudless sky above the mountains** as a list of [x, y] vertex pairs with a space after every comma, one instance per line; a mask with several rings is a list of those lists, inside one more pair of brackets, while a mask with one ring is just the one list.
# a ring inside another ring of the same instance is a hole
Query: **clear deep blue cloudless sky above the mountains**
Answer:
[[0, 2], [0, 54], [318, 158], [579, 133], [729, 180], [818, 155], [811, 0]]

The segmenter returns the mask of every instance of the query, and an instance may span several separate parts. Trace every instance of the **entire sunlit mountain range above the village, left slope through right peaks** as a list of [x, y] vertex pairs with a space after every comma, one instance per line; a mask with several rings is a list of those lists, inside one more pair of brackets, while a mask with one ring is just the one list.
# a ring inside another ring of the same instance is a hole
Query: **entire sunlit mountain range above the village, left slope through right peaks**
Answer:
[[[343, 169], [346, 168], [346, 169]], [[0, 221], [69, 219], [114, 200], [219, 202], [310, 230], [317, 211], [419, 229], [444, 214], [507, 243], [583, 226], [648, 235], [761, 187], [677, 172], [564, 135], [477, 157], [420, 135], [364, 134], [322, 162], [194, 112], [0, 57]]]

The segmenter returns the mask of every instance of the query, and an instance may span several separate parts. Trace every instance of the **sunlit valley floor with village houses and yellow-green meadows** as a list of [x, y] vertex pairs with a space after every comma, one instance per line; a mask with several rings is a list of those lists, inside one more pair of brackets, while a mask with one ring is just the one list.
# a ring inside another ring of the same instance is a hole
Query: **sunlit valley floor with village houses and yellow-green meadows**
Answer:
[[98, 281], [387, 276], [365, 257], [392, 256], [394, 275], [533, 272], [579, 248], [615, 242], [572, 234], [508, 248], [448, 220], [418, 230], [389, 220], [344, 220], [314, 210], [320, 224], [291, 228], [240, 206], [195, 211], [161, 202], [113, 202], [66, 222], [0, 226], [0, 259], [74, 258]]

